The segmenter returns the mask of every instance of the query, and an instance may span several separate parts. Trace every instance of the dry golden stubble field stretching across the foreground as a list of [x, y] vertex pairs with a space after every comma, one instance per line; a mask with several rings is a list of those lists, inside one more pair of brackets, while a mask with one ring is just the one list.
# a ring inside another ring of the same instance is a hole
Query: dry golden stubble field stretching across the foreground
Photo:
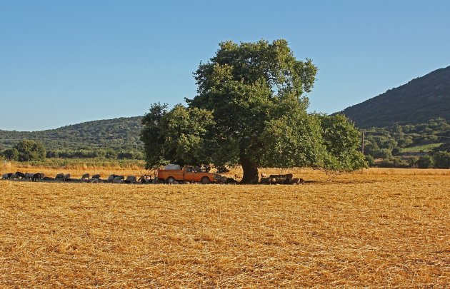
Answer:
[[[28, 171], [141, 173], [95, 170]], [[449, 170], [294, 173], [307, 183], [0, 181], [0, 287], [450, 286]]]

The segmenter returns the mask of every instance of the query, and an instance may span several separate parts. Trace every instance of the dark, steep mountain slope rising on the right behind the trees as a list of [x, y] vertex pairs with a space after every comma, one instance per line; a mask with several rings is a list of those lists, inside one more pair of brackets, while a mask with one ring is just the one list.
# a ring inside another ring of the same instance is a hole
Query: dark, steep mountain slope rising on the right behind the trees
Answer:
[[450, 66], [414, 78], [339, 113], [344, 113], [359, 128], [425, 123], [439, 117], [450, 120]]

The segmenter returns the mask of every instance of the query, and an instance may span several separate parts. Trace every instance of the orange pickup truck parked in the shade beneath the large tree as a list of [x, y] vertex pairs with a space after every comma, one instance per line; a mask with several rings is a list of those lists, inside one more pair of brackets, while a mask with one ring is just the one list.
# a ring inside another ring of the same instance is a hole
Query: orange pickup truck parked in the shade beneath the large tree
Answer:
[[201, 182], [216, 183], [220, 181], [220, 175], [216, 173], [204, 173], [197, 166], [184, 166], [182, 170], [158, 170], [157, 177], [159, 181], [166, 183], [181, 182]]

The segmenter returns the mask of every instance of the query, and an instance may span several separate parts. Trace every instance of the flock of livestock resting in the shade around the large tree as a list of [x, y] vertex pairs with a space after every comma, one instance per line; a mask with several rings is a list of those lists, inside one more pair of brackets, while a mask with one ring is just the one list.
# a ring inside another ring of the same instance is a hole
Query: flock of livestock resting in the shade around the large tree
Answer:
[[[21, 181], [56, 181], [56, 182], [72, 182], [72, 183], [166, 183], [166, 181], [161, 181], [156, 176], [144, 175], [140, 178], [136, 178], [136, 176], [119, 176], [119, 175], [110, 175], [106, 179], [101, 179], [100, 174], [96, 174], [91, 176], [89, 173], [85, 173], [81, 178], [71, 178], [70, 173], [59, 173], [55, 176], [55, 178], [51, 178], [49, 176], [45, 176], [44, 173], [5, 173], [1, 176], [2, 180], [21, 180]], [[180, 183], [180, 182], [172, 182]], [[219, 183], [228, 183], [228, 184], [236, 184], [238, 181], [234, 180], [234, 178], [226, 178], [223, 177], [219, 180]], [[270, 175], [266, 176], [264, 173], [261, 173], [261, 180], [259, 183], [271, 185], [271, 184], [289, 184], [289, 185], [298, 185], [304, 183], [302, 178], [293, 178], [291, 173], [285, 175]]]

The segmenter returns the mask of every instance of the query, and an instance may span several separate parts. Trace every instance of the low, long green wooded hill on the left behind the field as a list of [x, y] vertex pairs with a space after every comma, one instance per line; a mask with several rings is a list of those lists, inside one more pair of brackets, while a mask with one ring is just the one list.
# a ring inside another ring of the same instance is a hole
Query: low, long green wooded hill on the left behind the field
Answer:
[[126, 148], [142, 146], [139, 141], [142, 116], [87, 121], [45, 131], [1, 131], [0, 150], [21, 139], [34, 139], [47, 149]]

